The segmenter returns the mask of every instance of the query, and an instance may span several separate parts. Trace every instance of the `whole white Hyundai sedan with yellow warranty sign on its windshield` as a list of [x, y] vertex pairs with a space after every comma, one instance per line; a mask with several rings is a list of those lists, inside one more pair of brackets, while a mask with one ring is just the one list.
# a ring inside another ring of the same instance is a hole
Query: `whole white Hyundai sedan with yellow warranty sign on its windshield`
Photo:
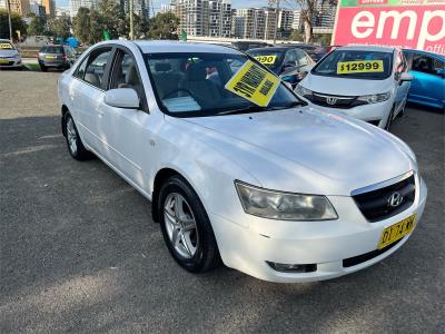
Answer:
[[231, 48], [101, 42], [58, 94], [70, 155], [96, 155], [147, 197], [192, 273], [222, 262], [273, 282], [342, 276], [402, 247], [424, 210], [406, 144], [306, 106]]

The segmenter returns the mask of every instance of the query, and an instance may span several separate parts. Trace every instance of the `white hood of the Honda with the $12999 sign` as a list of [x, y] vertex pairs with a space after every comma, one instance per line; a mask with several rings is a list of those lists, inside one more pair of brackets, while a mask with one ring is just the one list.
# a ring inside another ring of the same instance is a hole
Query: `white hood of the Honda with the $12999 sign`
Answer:
[[345, 79], [309, 73], [300, 85], [307, 89], [340, 96], [360, 96], [390, 90], [392, 77], [384, 80]]

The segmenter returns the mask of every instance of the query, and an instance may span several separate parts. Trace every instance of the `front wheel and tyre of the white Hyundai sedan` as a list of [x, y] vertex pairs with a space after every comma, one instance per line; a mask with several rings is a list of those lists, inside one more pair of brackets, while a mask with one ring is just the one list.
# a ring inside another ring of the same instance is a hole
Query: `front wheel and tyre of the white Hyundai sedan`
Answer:
[[159, 191], [158, 212], [164, 240], [175, 261], [190, 273], [205, 273], [220, 264], [207, 213], [190, 185], [172, 176]]

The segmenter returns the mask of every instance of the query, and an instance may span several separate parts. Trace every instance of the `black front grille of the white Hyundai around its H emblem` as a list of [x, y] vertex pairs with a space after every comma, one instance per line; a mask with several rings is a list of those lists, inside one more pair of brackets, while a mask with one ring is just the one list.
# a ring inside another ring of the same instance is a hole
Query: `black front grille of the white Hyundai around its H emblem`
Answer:
[[[403, 199], [397, 206], [394, 206], [394, 203], [392, 206], [389, 204], [389, 197], [392, 197], [392, 195], [395, 193], [402, 195]], [[353, 198], [366, 219], [368, 219], [370, 223], [374, 223], [393, 217], [406, 210], [413, 205], [415, 193], [415, 179], [414, 175], [411, 175], [409, 177], [389, 186], [367, 193], [360, 193], [358, 195], [353, 195]]]

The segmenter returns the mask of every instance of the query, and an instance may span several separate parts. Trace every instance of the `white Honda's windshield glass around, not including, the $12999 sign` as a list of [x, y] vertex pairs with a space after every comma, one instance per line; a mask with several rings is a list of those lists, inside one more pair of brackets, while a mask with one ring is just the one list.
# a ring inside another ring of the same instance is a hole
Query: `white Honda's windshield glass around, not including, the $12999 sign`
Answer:
[[[366, 71], [353, 73], [338, 73], [338, 62], [362, 61], [362, 60], [382, 60], [382, 71]], [[313, 75], [327, 76], [327, 77], [342, 77], [353, 79], [372, 79], [382, 80], [390, 76], [393, 68], [393, 53], [366, 50], [335, 50], [323, 59], [312, 70]]]

